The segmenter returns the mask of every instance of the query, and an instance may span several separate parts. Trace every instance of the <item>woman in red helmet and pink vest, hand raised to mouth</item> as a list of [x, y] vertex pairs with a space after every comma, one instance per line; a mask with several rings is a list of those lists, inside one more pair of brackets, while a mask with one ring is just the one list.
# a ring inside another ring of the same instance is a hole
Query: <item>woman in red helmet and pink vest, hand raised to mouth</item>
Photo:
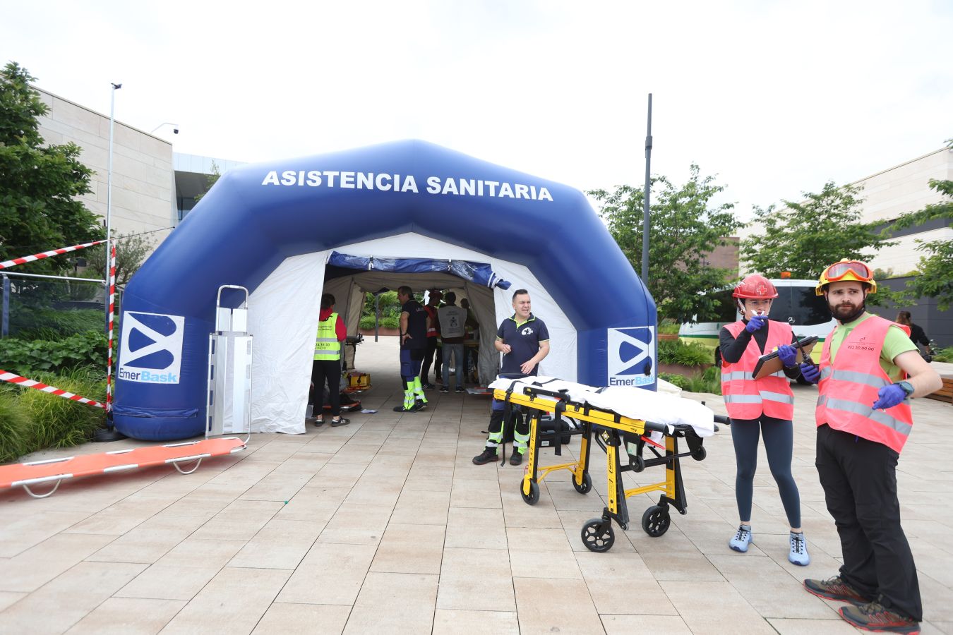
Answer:
[[[791, 525], [787, 559], [807, 566], [804, 532], [801, 531], [801, 495], [791, 474], [794, 451], [794, 393], [788, 378], [797, 379], [797, 353], [790, 346], [794, 333], [786, 322], [768, 319], [778, 290], [764, 276], [752, 274], [742, 280], [732, 296], [742, 317], [721, 328], [721, 394], [731, 418], [731, 441], [738, 471], [735, 499], [740, 525], [728, 546], [745, 552], [752, 542], [751, 500], [758, 467], [758, 438], [764, 438], [768, 466], [781, 492], [781, 504]], [[783, 371], [754, 379], [758, 358], [778, 349]]]

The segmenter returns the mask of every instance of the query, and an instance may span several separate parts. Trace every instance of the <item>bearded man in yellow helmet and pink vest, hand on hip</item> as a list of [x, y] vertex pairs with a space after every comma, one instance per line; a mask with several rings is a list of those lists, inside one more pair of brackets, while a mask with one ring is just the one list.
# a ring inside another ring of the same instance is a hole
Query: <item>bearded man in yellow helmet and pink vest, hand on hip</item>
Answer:
[[804, 580], [804, 588], [851, 603], [841, 617], [858, 628], [919, 633], [923, 605], [896, 469], [913, 427], [910, 398], [943, 382], [908, 327], [866, 312], [867, 295], [876, 292], [873, 271], [847, 259], [825, 268], [816, 289], [838, 324], [824, 340], [821, 366], [801, 364], [801, 373], [819, 384], [816, 465], [843, 565], [828, 580]]

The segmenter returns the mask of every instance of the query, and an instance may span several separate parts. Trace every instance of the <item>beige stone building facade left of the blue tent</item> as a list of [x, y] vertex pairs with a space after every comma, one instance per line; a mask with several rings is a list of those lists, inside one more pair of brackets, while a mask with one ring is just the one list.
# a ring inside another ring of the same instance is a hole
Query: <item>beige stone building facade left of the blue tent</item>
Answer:
[[[33, 87], [50, 107], [40, 118], [48, 144], [75, 143], [79, 160], [93, 170], [92, 191], [80, 197], [105, 222], [109, 176], [110, 117]], [[177, 222], [172, 144], [115, 122], [112, 144], [112, 233], [152, 232], [161, 243]], [[65, 246], [56, 246], [65, 247]]]

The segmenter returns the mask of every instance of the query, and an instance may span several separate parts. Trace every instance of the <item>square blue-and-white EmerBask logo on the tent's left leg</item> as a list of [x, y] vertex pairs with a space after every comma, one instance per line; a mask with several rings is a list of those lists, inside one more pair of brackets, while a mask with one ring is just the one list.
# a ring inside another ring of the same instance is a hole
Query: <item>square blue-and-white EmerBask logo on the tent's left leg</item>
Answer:
[[119, 379], [144, 384], [178, 384], [185, 318], [126, 311], [122, 317]]

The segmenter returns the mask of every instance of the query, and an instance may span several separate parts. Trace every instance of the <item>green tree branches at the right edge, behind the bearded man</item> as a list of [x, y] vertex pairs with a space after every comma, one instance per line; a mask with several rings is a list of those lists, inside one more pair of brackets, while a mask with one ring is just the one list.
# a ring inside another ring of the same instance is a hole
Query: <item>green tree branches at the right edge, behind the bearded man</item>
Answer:
[[[953, 139], [947, 139], [946, 147], [953, 149]], [[945, 219], [949, 223], [949, 219], [953, 218], [953, 181], [930, 179], [929, 184], [944, 199], [940, 203], [903, 214], [886, 228], [885, 233], [923, 225], [935, 219]], [[936, 298], [937, 308], [944, 311], [953, 304], [953, 241], [916, 242], [917, 250], [923, 253], [918, 265], [920, 275], [907, 283], [906, 295], [911, 300], [924, 296]]]

